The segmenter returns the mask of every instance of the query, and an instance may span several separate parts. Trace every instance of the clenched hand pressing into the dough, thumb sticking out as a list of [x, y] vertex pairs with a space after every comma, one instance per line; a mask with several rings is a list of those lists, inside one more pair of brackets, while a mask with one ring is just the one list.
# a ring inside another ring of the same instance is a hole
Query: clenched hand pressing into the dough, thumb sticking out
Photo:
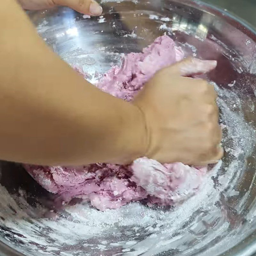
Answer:
[[205, 73], [216, 64], [185, 59], [157, 72], [136, 97], [133, 103], [146, 120], [148, 158], [205, 165], [222, 157], [216, 92], [202, 79], [182, 77]]

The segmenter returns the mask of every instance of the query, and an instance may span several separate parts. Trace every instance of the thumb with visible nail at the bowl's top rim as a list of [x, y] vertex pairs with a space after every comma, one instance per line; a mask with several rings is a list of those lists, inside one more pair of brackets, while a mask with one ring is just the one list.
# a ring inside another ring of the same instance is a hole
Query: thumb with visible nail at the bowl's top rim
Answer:
[[94, 0], [54, 0], [54, 3], [91, 16], [98, 16], [102, 13], [102, 7]]

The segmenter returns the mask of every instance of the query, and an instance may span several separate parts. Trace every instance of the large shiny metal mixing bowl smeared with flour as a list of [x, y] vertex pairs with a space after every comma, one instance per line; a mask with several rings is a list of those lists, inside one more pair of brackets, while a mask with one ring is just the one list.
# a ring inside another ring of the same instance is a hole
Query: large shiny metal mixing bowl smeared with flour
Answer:
[[68, 8], [29, 16], [53, 51], [92, 82], [164, 33], [187, 55], [218, 60], [207, 78], [217, 84], [225, 156], [180, 206], [132, 203], [106, 212], [58, 204], [19, 164], [2, 162], [0, 255], [255, 255], [255, 31], [197, 1], [102, 2], [99, 18]]

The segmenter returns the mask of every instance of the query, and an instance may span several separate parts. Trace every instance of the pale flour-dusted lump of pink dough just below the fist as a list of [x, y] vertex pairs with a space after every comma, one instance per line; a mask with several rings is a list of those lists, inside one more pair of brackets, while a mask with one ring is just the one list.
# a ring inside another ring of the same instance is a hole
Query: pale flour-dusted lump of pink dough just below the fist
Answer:
[[135, 160], [131, 167], [131, 180], [146, 190], [148, 202], [158, 205], [177, 204], [192, 196], [207, 172], [207, 167], [160, 164], [147, 157]]

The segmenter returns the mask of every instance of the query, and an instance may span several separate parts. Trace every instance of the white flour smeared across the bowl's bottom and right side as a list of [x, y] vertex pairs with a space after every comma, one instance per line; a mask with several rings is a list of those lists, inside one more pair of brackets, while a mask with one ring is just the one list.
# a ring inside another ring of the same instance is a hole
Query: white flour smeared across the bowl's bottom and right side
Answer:
[[[6, 239], [7, 243], [19, 241], [26, 244], [26, 248], [31, 250], [26, 255], [59, 255], [62, 251], [70, 255], [84, 256], [97, 255], [96, 252], [100, 250], [102, 255], [113, 251], [116, 254], [111, 255], [120, 255], [122, 252], [121, 255], [127, 256], [137, 256], [140, 253], [151, 256], [170, 248], [182, 250], [182, 240], [185, 239], [185, 243], [195, 236], [194, 233], [207, 228], [206, 223], [212, 221], [219, 220], [214, 232], [208, 233], [197, 246], [206, 245], [216, 234], [225, 234], [229, 224], [223, 219], [222, 210], [216, 202], [220, 201], [220, 196], [225, 198], [230, 193], [236, 195], [233, 185], [245, 166], [239, 158], [244, 159], [251, 154], [253, 142], [249, 141], [254, 132], [243, 116], [234, 113], [226, 103], [233, 106], [233, 102], [236, 102], [237, 107], [241, 108], [236, 94], [223, 89], [217, 91], [220, 95], [218, 101], [222, 110], [222, 123], [227, 125], [223, 143], [228, 143], [228, 149], [233, 151], [228, 160], [225, 160], [228, 164], [219, 162], [209, 173], [196, 196], [171, 210], [152, 209], [141, 203], [132, 203], [121, 209], [105, 212], [98, 211], [87, 203], [64, 205], [57, 214], [52, 213], [53, 219], [49, 219], [43, 218], [45, 213], [49, 214], [49, 210], [40, 205], [31, 207], [26, 202], [27, 195], [24, 191], [20, 190], [16, 196], [10, 196], [0, 186], [0, 224], [5, 227], [0, 239]], [[215, 178], [218, 179], [218, 186], [214, 188]], [[220, 191], [223, 192], [220, 194]], [[246, 201], [247, 196], [249, 195], [245, 195], [242, 201]], [[205, 212], [208, 214], [205, 215]], [[191, 219], [193, 214], [196, 214], [196, 220]], [[174, 234], [180, 235], [173, 236]], [[21, 246], [19, 250], [22, 252], [24, 247]]]

